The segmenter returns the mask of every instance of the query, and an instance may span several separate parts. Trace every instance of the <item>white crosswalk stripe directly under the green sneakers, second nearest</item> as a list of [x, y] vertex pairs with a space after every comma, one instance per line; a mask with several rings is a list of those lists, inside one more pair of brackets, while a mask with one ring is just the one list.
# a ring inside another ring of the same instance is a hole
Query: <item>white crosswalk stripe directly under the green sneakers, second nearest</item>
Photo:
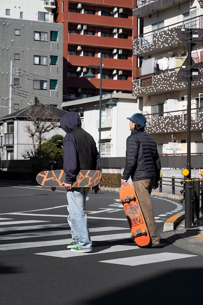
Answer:
[[83, 256], [83, 255], [112, 253], [112, 252], [128, 251], [128, 250], [135, 250], [135, 249], [140, 249], [140, 248], [138, 246], [116, 245], [116, 246], [112, 246], [110, 248], [100, 250], [100, 251], [98, 250], [98, 247], [95, 247], [95, 248], [93, 248], [93, 252], [89, 252], [89, 253], [72, 252], [69, 249], [69, 250], [41, 252], [41, 253], [34, 253], [34, 254], [60, 257], [60, 258], [69, 258], [69, 257]]

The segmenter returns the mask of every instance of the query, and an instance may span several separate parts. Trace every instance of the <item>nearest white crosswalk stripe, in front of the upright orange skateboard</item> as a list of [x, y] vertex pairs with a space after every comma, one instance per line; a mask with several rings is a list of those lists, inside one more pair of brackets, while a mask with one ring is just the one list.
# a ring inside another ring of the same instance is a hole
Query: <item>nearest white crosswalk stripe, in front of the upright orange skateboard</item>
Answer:
[[195, 257], [195, 256], [198, 256], [198, 255], [163, 252], [163, 253], [156, 253], [156, 254], [147, 254], [147, 255], [99, 261], [99, 263], [108, 263], [108, 264], [125, 265], [125, 266], [134, 267], [134, 266], [139, 266], [139, 265], [160, 263], [160, 262], [172, 261], [172, 260]]

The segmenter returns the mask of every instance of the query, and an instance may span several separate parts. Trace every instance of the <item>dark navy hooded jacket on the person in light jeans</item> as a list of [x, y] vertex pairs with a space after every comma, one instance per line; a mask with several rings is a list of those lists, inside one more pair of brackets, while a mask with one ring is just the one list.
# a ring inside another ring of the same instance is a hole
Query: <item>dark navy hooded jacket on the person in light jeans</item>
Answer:
[[60, 119], [63, 139], [65, 182], [73, 184], [80, 170], [99, 170], [99, 153], [92, 135], [81, 128], [80, 115], [68, 112]]

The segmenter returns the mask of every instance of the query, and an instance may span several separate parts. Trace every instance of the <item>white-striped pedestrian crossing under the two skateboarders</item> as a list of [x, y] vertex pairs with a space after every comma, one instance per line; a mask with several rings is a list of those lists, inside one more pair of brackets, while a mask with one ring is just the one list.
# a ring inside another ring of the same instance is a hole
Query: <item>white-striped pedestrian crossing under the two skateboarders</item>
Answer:
[[[5, 226], [3, 227], [3, 225]], [[34, 255], [39, 257], [55, 257], [55, 259], [74, 259], [93, 255], [98, 257], [98, 263], [135, 267], [197, 256], [185, 253], [161, 251], [158, 253], [144, 254], [142, 248], [139, 248], [136, 244], [130, 242], [130, 231], [125, 227], [107, 226], [90, 228], [90, 235], [93, 244], [92, 252], [90, 253], [72, 252], [70, 249], [66, 248], [66, 245], [72, 241], [71, 231], [67, 223], [50, 224], [48, 221], [42, 220], [15, 221], [11, 218], [4, 218], [1, 219], [0, 222], [0, 232], [0, 251], [2, 252], [32, 249], [31, 253]], [[35, 241], [32, 239], [35, 239]], [[126, 240], [128, 239], [129, 243], [126, 244]], [[125, 240], [124, 244], [122, 243], [123, 240]], [[117, 241], [117, 244], [115, 244], [115, 241]], [[99, 242], [104, 242], [103, 246], [98, 246]], [[105, 242], [107, 243], [105, 244]], [[64, 249], [61, 250], [60, 247], [60, 249], [57, 250], [58, 246], [62, 246]], [[162, 245], [160, 249], [164, 246], [166, 245]], [[50, 250], [48, 251], [39, 251], [43, 248], [49, 247]], [[56, 247], [56, 250], [53, 247]], [[37, 251], [35, 249], [37, 249]], [[111, 257], [113, 254], [115, 258], [101, 260], [101, 255], [107, 253], [111, 254]], [[121, 257], [123, 255], [125, 257]]]

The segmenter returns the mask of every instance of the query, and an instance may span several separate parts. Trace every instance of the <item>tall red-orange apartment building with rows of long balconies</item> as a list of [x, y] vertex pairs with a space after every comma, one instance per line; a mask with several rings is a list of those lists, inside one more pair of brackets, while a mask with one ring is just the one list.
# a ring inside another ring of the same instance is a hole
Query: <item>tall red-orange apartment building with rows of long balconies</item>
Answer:
[[63, 23], [63, 101], [99, 94], [100, 69], [91, 82], [84, 76], [100, 65], [102, 91], [132, 92], [136, 57], [132, 39], [137, 35], [135, 0], [56, 0], [55, 21]]

